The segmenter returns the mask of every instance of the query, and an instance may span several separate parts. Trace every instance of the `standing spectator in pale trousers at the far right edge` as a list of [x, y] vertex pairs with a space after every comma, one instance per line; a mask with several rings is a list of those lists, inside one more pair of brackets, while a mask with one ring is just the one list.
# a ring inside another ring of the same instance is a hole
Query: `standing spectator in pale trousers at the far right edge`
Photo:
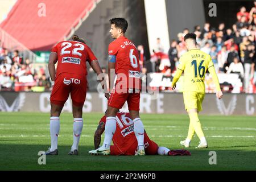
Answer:
[[245, 85], [244, 89], [246, 93], [249, 93], [249, 84], [250, 84], [250, 79], [253, 77], [253, 75], [250, 75], [251, 73], [251, 64], [253, 64], [253, 57], [254, 57], [254, 45], [249, 44], [246, 46], [243, 51], [245, 51]]

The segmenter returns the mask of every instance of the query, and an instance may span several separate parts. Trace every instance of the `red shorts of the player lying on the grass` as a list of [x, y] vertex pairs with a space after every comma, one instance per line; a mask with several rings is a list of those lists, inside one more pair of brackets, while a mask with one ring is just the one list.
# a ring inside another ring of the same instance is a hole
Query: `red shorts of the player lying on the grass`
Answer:
[[[117, 146], [110, 146], [110, 154], [111, 155], [135, 155], [135, 151], [137, 150], [138, 143], [134, 142], [131, 144], [128, 150], [122, 152], [122, 148], [118, 148]], [[146, 155], [157, 155], [158, 154], [158, 144], [148, 138], [147, 134], [144, 134], [144, 148]]]

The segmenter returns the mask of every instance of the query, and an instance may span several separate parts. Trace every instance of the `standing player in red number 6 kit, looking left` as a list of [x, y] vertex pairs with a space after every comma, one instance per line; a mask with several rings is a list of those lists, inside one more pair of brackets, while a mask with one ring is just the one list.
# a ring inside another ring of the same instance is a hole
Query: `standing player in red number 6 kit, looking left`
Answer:
[[116, 82], [108, 98], [106, 113], [105, 138], [103, 145], [97, 149], [99, 153], [109, 154], [110, 143], [116, 128], [115, 115], [127, 101], [131, 119], [134, 122], [134, 133], [138, 140], [138, 155], [144, 152], [144, 126], [139, 118], [139, 98], [141, 92], [141, 69], [137, 48], [125, 37], [128, 23], [124, 18], [110, 19], [110, 34], [115, 39], [109, 44], [109, 85], [113, 88], [115, 72]]

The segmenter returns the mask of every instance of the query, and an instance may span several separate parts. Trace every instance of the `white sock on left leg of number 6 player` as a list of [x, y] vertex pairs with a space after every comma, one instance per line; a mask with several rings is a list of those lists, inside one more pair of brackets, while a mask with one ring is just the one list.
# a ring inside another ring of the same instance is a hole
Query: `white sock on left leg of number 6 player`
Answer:
[[113, 135], [115, 133], [117, 119], [115, 117], [107, 117], [106, 118], [106, 126], [105, 126], [105, 138], [103, 145], [105, 148], [109, 148]]

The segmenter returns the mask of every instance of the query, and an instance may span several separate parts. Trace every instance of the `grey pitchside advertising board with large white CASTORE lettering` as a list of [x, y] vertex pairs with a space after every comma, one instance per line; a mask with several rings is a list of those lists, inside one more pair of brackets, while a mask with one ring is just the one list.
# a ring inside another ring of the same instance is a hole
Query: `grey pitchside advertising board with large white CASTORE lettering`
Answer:
[[[1, 92], [1, 111], [34, 111], [49, 113], [51, 105], [49, 92]], [[87, 93], [83, 107], [84, 113], [101, 112], [107, 108], [107, 100], [102, 93]], [[181, 93], [159, 93], [152, 100], [150, 94], [141, 94], [141, 113], [185, 114]], [[127, 111], [127, 104], [122, 111]], [[72, 112], [72, 101], [68, 101], [63, 111]], [[206, 94], [202, 114], [256, 115], [256, 94], [224, 94], [223, 100], [217, 100], [215, 94]]]

